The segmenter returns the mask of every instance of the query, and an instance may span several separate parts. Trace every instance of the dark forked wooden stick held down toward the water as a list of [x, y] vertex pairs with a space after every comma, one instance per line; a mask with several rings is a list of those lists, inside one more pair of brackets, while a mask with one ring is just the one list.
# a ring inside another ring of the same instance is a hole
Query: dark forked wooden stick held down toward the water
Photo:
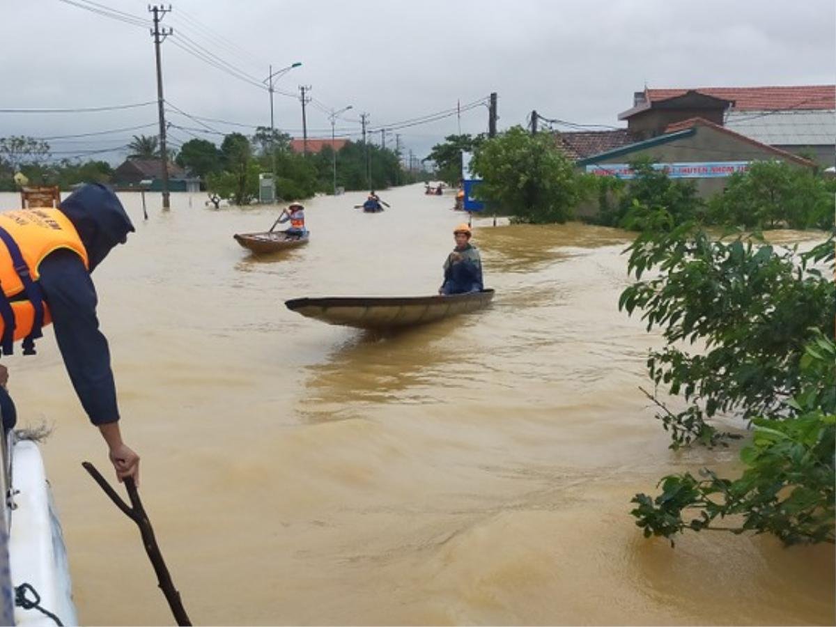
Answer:
[[148, 558], [157, 576], [157, 586], [166, 595], [166, 600], [171, 608], [171, 613], [174, 614], [174, 619], [178, 625], [191, 625], [191, 620], [189, 620], [186, 614], [186, 609], [183, 608], [180, 593], [174, 587], [174, 582], [171, 581], [171, 575], [168, 572], [168, 568], [166, 568], [166, 562], [163, 560], [160, 547], [156, 543], [154, 530], [151, 528], [150, 520], [145, 513], [145, 507], [142, 507], [140, 493], [136, 489], [133, 477], [127, 477], [125, 479], [125, 488], [128, 491], [128, 497], [132, 506], [128, 507], [127, 503], [121, 499], [113, 487], [110, 487], [110, 483], [101, 476], [101, 473], [93, 464], [89, 461], [83, 461], [81, 465], [84, 466], [84, 470], [89, 472], [90, 477], [93, 477], [94, 481], [99, 484], [99, 487], [104, 490], [104, 493], [110, 497], [110, 500], [115, 503], [116, 507], [119, 507], [125, 513], [125, 516], [129, 517], [140, 528], [142, 543], [145, 545], [145, 553], [148, 553]]

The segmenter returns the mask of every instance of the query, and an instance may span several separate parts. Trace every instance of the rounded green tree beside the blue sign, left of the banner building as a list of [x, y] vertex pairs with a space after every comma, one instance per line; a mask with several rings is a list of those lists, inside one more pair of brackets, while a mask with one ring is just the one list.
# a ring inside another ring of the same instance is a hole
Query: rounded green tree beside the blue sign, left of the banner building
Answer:
[[472, 168], [482, 176], [477, 195], [519, 222], [566, 222], [588, 191], [552, 135], [531, 135], [520, 126], [484, 141]]

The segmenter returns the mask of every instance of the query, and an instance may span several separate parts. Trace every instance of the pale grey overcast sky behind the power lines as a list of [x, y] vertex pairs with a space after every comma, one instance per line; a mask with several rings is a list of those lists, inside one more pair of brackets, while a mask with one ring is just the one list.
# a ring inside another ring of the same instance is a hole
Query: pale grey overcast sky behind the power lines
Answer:
[[[71, 0], [149, 20], [142, 0]], [[147, 28], [61, 0], [4, 3], [0, 110], [87, 108], [156, 99], [154, 46]], [[166, 7], [168, 5], [166, 4]], [[168, 120], [174, 145], [194, 136], [270, 124], [258, 83], [268, 66], [302, 66], [279, 78], [276, 125], [301, 136], [298, 86], [312, 86], [308, 135], [330, 136], [324, 109], [353, 105], [337, 134], [359, 135], [487, 99], [499, 100], [500, 130], [526, 124], [531, 110], [583, 125], [616, 125], [633, 92], [650, 87], [734, 87], [836, 83], [833, 0], [171, 0], [162, 24], [165, 97], [184, 115]], [[131, 19], [131, 18], [125, 18]], [[178, 47], [180, 46], [180, 47]], [[197, 46], [202, 47], [198, 48]], [[184, 49], [186, 48], [186, 49]], [[231, 65], [238, 79], [215, 64]], [[255, 84], [252, 80], [254, 79]], [[124, 145], [156, 133], [155, 104], [97, 113], [0, 112], [0, 137], [52, 137], [148, 125], [104, 135], [49, 140], [57, 156]], [[250, 125], [236, 127], [227, 122]], [[487, 130], [477, 105], [431, 124], [400, 128], [404, 150], [422, 157], [445, 135]], [[567, 127], [558, 127], [566, 129]], [[203, 132], [206, 131], [206, 132]], [[375, 132], [375, 143], [380, 132]], [[91, 155], [118, 162], [125, 151]], [[86, 158], [86, 156], [85, 156]]]

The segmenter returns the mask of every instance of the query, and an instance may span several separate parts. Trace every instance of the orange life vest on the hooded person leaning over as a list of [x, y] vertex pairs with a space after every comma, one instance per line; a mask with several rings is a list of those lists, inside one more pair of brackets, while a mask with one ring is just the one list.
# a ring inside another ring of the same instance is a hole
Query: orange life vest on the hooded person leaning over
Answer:
[[[73, 223], [59, 209], [19, 209], [0, 213], [0, 348], [12, 354], [23, 339], [23, 354], [34, 354], [34, 339], [52, 319], [37, 285], [38, 268], [49, 253], [68, 248], [89, 260]], [[11, 329], [9, 327], [11, 326]]]

